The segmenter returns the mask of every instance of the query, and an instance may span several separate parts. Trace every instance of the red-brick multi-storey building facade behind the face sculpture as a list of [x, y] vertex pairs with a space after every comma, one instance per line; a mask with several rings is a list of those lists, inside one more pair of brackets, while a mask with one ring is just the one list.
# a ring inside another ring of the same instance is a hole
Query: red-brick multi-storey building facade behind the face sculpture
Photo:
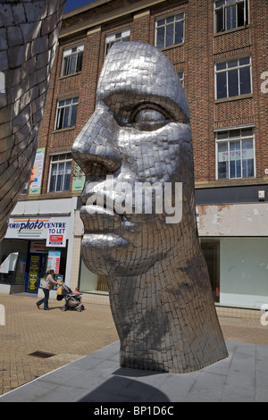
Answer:
[[94, 112], [107, 48], [128, 40], [161, 48], [184, 85], [199, 236], [215, 301], [254, 308], [268, 303], [266, 0], [96, 0], [66, 13], [39, 133], [40, 189], [32, 194], [28, 186], [12, 219], [34, 217], [31, 206], [44, 217], [70, 218], [63, 276], [71, 287], [94, 290], [96, 298], [105, 292], [104, 279], [80, 263], [82, 178], [70, 153]]

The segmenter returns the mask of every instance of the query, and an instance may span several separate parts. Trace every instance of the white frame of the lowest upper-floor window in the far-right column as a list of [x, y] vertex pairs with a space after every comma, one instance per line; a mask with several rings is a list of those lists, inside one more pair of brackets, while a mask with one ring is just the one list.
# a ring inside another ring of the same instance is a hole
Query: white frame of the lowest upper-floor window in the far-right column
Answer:
[[[241, 134], [238, 137], [230, 137], [230, 132], [231, 131], [236, 131], [236, 130], [252, 130], [252, 135], [248, 135], [245, 137], [242, 137]], [[228, 137], [223, 138], [223, 139], [217, 139], [217, 136], [219, 134], [221, 134], [222, 132], [228, 131]], [[215, 179], [216, 180], [242, 180], [242, 179], [246, 179], [246, 178], [252, 178], [250, 177], [243, 177], [243, 154], [241, 154], [241, 160], [240, 160], [240, 165], [241, 165], [241, 176], [240, 177], [232, 177], [230, 178], [230, 143], [231, 142], [235, 142], [235, 141], [240, 141], [240, 150], [242, 149], [242, 141], [243, 140], [248, 140], [248, 139], [252, 139], [252, 144], [253, 144], [253, 159], [254, 159], [254, 174], [253, 177], [255, 178], [256, 176], [256, 164], [255, 164], [255, 125], [245, 125], [245, 126], [238, 126], [238, 127], [228, 127], [222, 130], [214, 130], [214, 136], [215, 136]], [[229, 156], [229, 164], [228, 164], [228, 178], [219, 178], [219, 161], [218, 161], [218, 147], [219, 144], [221, 143], [226, 143], [228, 142], [228, 156]]]

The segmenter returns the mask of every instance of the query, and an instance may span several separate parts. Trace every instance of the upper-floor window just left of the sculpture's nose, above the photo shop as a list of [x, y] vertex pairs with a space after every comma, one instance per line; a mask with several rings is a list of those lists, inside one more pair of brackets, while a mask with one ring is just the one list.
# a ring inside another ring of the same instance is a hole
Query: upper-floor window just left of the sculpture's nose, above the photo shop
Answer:
[[48, 192], [69, 191], [71, 161], [71, 153], [51, 156]]

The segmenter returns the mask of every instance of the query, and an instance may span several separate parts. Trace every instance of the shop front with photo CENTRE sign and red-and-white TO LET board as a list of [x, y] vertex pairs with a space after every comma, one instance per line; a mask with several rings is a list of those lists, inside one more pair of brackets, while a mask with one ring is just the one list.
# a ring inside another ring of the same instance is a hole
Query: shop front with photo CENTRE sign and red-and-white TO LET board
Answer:
[[[61, 205], [59, 208], [66, 209], [63, 203]], [[42, 206], [47, 211], [54, 203], [43, 202]], [[70, 212], [58, 215], [25, 216], [25, 212], [15, 215], [20, 207], [21, 203], [15, 207], [0, 244], [0, 293], [25, 291], [38, 294], [50, 269], [54, 270], [57, 280], [70, 283], [73, 242], [71, 206]]]

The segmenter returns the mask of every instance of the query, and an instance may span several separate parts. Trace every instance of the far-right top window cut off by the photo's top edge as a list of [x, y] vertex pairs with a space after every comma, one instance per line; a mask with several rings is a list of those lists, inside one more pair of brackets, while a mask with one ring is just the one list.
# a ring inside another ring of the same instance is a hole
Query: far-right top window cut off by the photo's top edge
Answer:
[[214, 3], [215, 33], [248, 24], [247, 0], [219, 0]]

